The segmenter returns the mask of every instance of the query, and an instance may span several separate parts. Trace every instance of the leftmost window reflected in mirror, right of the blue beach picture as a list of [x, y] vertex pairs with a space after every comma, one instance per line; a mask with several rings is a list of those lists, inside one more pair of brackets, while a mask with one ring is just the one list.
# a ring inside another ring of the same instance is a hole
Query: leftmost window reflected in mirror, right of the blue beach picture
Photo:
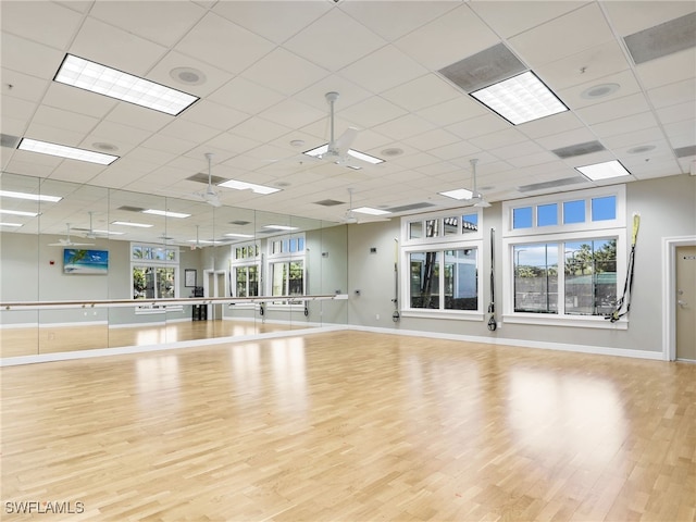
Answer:
[[178, 297], [178, 252], [161, 245], [130, 245], [134, 299]]

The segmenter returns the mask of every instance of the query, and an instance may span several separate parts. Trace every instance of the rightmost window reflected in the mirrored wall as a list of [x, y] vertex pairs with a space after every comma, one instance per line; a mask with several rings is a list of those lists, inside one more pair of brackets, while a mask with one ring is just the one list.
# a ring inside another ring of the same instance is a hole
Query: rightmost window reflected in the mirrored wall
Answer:
[[[269, 274], [271, 296], [303, 296], [304, 235], [293, 235], [269, 241]], [[276, 304], [283, 303], [277, 301]], [[286, 303], [293, 303], [288, 301]]]

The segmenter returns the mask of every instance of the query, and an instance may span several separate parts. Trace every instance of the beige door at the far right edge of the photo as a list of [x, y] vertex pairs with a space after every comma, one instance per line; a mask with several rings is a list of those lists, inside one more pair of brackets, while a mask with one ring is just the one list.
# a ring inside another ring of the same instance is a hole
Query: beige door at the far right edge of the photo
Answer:
[[676, 247], [676, 359], [696, 361], [696, 246]]

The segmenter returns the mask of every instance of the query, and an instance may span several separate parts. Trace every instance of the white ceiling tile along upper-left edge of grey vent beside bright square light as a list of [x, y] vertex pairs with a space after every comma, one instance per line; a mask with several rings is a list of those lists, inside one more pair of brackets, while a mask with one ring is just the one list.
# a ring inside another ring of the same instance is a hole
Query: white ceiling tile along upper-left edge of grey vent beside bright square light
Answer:
[[498, 42], [465, 4], [409, 33], [396, 46], [431, 70], [439, 70]]

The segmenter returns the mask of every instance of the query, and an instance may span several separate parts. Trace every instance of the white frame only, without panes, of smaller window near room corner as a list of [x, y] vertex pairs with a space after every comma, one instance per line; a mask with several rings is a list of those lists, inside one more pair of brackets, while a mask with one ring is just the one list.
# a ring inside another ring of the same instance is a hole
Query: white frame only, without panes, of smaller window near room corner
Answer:
[[[446, 233], [444, 220], [448, 217], [459, 217], [465, 215], [476, 215], [476, 231], [463, 233], [462, 224], [459, 223], [457, 233]], [[425, 222], [437, 221], [440, 234], [435, 237], [411, 238], [410, 229], [412, 223], [421, 222], [421, 229], [425, 233]], [[476, 310], [452, 310], [445, 307], [445, 265], [447, 263], [446, 252], [448, 250], [476, 250]], [[438, 309], [411, 308], [411, 253], [438, 252], [439, 257], [439, 281], [438, 294], [442, 296]], [[412, 214], [401, 217], [401, 244], [398, 252], [400, 266], [399, 285], [399, 313], [403, 318], [423, 319], [450, 319], [464, 321], [482, 321], [484, 318], [483, 303], [483, 211], [480, 208], [462, 207], [447, 211], [428, 212], [424, 214]]]

